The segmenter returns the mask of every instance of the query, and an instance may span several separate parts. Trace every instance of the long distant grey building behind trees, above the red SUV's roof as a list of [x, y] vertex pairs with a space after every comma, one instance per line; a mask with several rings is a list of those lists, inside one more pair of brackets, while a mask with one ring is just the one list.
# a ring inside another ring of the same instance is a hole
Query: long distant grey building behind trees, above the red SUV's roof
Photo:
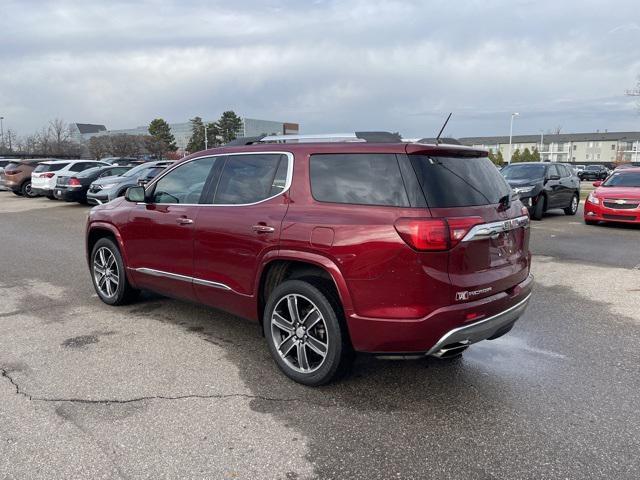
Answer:
[[[258, 120], [255, 118], [242, 118], [242, 125], [236, 132], [238, 137], [255, 137], [258, 135], [293, 135], [297, 134], [300, 127], [297, 123], [277, 122], [274, 120]], [[204, 119], [204, 123], [211, 123], [215, 120]], [[106, 130], [100, 135], [149, 135], [148, 126], [136, 128], [126, 128], [121, 130]], [[191, 138], [191, 123], [170, 123], [171, 133], [176, 140], [178, 150], [185, 151]]]

